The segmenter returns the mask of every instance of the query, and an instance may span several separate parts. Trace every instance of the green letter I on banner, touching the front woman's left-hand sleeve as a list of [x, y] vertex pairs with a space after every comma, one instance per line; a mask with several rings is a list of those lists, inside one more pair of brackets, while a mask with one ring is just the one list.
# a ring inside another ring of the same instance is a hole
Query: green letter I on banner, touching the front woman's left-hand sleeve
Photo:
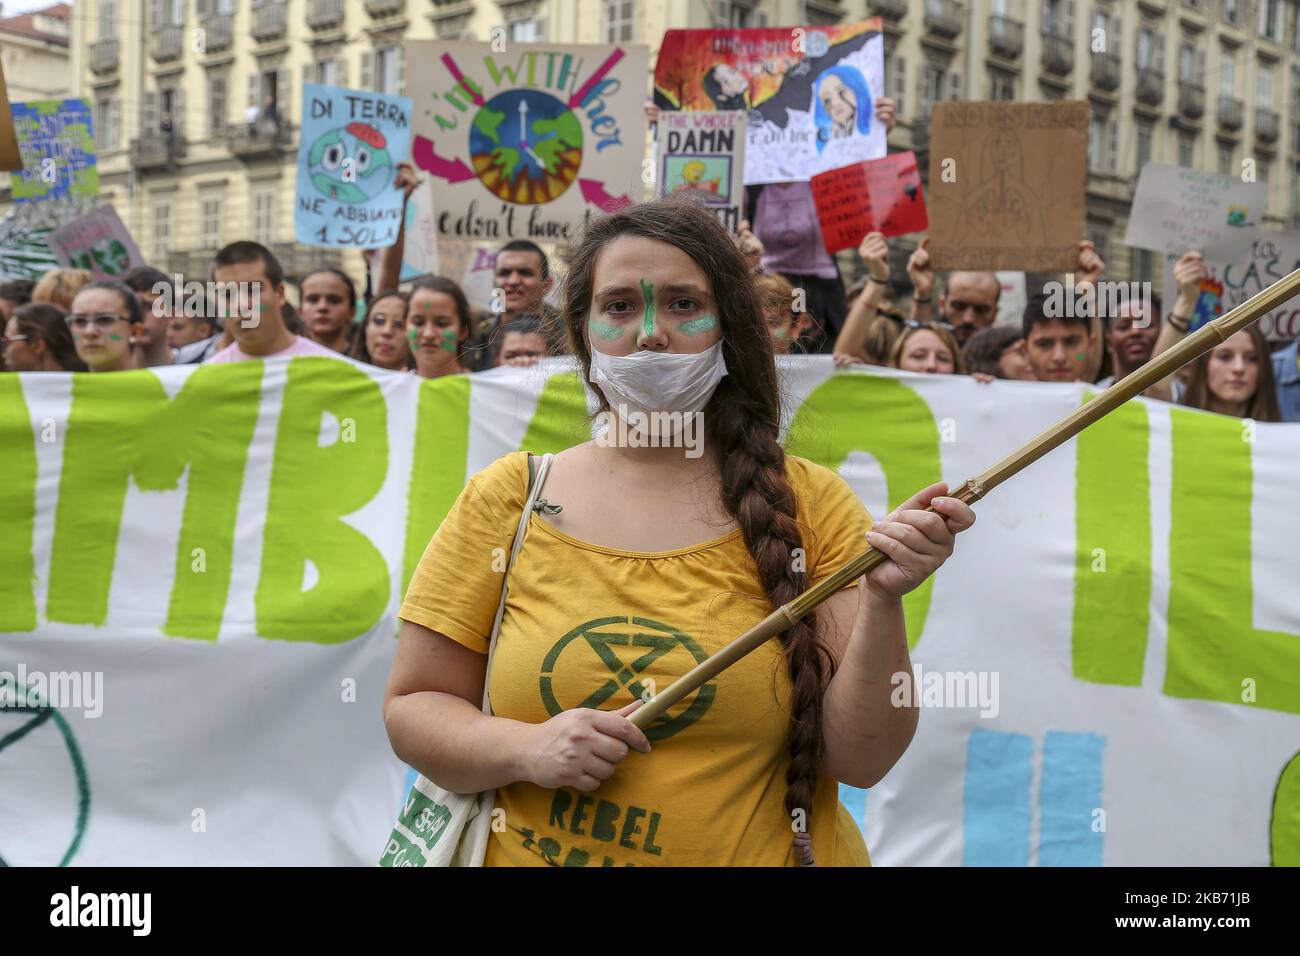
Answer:
[[411, 490], [407, 493], [406, 592], [433, 532], [465, 486], [469, 458], [469, 376], [445, 375], [420, 381], [415, 423]]

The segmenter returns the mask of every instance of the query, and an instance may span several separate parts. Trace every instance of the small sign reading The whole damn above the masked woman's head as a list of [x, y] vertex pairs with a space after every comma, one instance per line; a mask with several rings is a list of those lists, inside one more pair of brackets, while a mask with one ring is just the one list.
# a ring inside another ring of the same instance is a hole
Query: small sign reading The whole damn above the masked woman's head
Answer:
[[664, 112], [655, 134], [656, 195], [680, 190], [702, 200], [727, 232], [745, 217], [745, 113]]

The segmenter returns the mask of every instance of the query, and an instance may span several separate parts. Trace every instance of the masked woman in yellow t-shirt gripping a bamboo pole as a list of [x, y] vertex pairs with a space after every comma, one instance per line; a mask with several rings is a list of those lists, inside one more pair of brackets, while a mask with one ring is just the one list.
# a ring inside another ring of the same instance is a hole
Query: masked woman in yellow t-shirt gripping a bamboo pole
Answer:
[[[875, 784], [910, 743], [916, 710], [890, 705], [892, 675], [911, 676], [901, 597], [974, 514], [939, 484], [872, 527], [842, 479], [784, 453], [754, 282], [701, 204], [593, 222], [564, 302], [607, 429], [555, 457], [529, 518], [493, 717], [528, 454], [469, 479], [402, 606], [394, 750], [450, 790], [497, 788], [489, 866], [867, 865], [837, 782]], [[889, 561], [645, 732], [627, 719], [863, 536]]]

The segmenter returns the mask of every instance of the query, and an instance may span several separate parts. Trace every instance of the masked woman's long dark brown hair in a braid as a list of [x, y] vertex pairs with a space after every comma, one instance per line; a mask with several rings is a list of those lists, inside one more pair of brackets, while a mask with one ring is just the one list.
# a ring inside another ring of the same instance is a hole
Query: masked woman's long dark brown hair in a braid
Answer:
[[[744, 532], [772, 607], [807, 588], [797, 557], [803, 551], [794, 492], [785, 479], [780, 429], [780, 381], [768, 345], [760, 298], [736, 243], [698, 202], [668, 198], [633, 206], [592, 222], [569, 258], [562, 317], [572, 352], [590, 375], [584, 336], [592, 307], [595, 261], [606, 245], [623, 235], [656, 239], [680, 248], [699, 265], [714, 293], [722, 328], [727, 375], [705, 407], [705, 437], [722, 476], [722, 503]], [[740, 347], [740, 346], [744, 347]], [[599, 410], [608, 402], [599, 392]], [[789, 665], [790, 763], [785, 774], [785, 809], [792, 822], [802, 812], [796, 856], [812, 864], [812, 797], [823, 756], [822, 704], [835, 662], [818, 640], [810, 613], [781, 633]]]

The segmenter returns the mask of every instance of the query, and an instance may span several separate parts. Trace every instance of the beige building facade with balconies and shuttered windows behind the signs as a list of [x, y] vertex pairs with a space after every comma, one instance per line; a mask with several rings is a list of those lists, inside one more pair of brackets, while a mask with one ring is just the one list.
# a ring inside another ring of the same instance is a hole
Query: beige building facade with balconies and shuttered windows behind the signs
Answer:
[[[224, 242], [272, 246], [292, 274], [360, 256], [294, 242], [304, 82], [404, 92], [407, 39], [645, 43], [673, 27], [831, 25], [879, 16], [892, 143], [927, 163], [933, 103], [1091, 104], [1087, 232], [1117, 277], [1147, 161], [1269, 185], [1265, 221], [1300, 225], [1297, 0], [83, 0], [70, 75], [95, 105], [100, 182], [142, 251], [204, 272]], [[650, 92], [647, 77], [646, 92]], [[250, 122], [254, 108], [261, 121]], [[276, 122], [265, 121], [270, 112]], [[900, 243], [896, 254], [907, 254]], [[852, 259], [852, 256], [850, 256]], [[901, 271], [901, 269], [900, 269]]]

